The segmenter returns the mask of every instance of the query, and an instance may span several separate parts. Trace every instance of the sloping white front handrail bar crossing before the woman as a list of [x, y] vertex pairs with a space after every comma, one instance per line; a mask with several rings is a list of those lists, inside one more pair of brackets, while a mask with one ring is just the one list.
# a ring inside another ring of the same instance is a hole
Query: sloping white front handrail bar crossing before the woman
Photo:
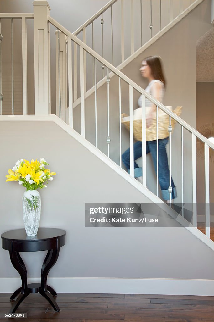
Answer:
[[175, 121], [177, 121], [180, 125], [183, 125], [184, 128], [186, 128], [189, 132], [194, 134], [196, 137], [198, 137], [203, 143], [207, 144], [210, 148], [214, 149], [214, 144], [211, 143], [206, 137], [204, 137], [201, 133], [199, 133], [196, 129], [194, 129], [192, 126], [190, 126], [187, 122], [185, 122], [182, 118], [177, 116], [175, 113], [171, 112], [169, 109], [167, 109], [162, 103], [160, 103], [157, 99], [155, 99], [153, 96], [151, 96], [149, 93], [147, 93], [145, 90], [143, 90], [139, 85], [137, 85], [134, 81], [132, 81], [129, 77], [124, 75], [121, 71], [119, 71], [116, 67], [111, 65], [107, 60], [105, 60], [102, 56], [100, 56], [97, 52], [92, 50], [89, 46], [87, 46], [85, 43], [83, 43], [79, 38], [73, 35], [70, 31], [68, 31], [66, 28], [64, 28], [61, 24], [59, 24], [55, 19], [53, 19], [50, 16], [47, 16], [48, 21], [53, 24], [57, 29], [59, 29], [62, 33], [64, 33], [66, 36], [70, 37], [74, 43], [81, 46], [86, 52], [88, 52], [91, 56], [95, 57], [99, 62], [101, 62], [103, 65], [105, 65], [107, 68], [109, 68], [113, 73], [115, 73], [117, 76], [119, 76], [121, 79], [123, 79], [126, 83], [131, 85], [135, 90], [140, 92], [142, 95], [144, 95], [147, 99], [149, 99], [154, 105], [158, 106], [160, 109], [162, 109], [166, 114], [170, 115]]

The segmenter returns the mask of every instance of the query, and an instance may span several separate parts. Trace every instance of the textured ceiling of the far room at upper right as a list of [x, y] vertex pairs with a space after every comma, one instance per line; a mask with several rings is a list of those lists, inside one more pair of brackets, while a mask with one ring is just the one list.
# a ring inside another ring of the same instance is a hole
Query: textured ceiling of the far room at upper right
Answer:
[[196, 81], [214, 81], [214, 26], [196, 42]]

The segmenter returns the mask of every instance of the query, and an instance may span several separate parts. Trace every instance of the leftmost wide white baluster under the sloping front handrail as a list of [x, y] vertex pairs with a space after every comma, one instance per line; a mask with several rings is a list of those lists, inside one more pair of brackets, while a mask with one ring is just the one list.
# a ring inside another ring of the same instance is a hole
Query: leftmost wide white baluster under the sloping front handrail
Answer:
[[73, 128], [73, 80], [72, 80], [72, 46], [71, 38], [68, 38], [67, 56], [68, 56], [68, 113], [69, 113], [69, 126]]

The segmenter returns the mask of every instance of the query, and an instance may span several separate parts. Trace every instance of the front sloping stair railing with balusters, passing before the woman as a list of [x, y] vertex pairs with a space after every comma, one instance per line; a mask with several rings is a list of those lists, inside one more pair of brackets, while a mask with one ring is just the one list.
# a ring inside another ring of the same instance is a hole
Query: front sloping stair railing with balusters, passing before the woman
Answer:
[[[80, 109], [81, 109], [81, 135], [85, 137], [85, 124], [87, 120], [85, 120], [85, 90], [84, 90], [84, 78], [85, 78], [85, 61], [84, 61], [84, 53], [89, 54], [94, 60], [94, 77], [95, 77], [95, 100], [94, 100], [94, 108], [95, 108], [95, 142], [97, 146], [97, 83], [96, 83], [96, 66], [97, 62], [104, 65], [107, 68], [107, 101], [103, 99], [103, 106], [107, 106], [107, 138], [106, 142], [108, 145], [107, 155], [109, 157], [109, 146], [111, 142], [110, 133], [109, 133], [109, 72], [113, 72], [118, 77], [118, 88], [119, 88], [119, 110], [121, 113], [121, 81], [126, 82], [129, 85], [129, 114], [130, 114], [130, 175], [134, 177], [134, 165], [133, 165], [133, 90], [138, 91], [139, 95], [142, 95], [142, 164], [143, 164], [143, 186], [146, 187], [146, 124], [145, 124], [145, 99], [149, 99], [151, 103], [156, 105], [157, 114], [156, 114], [156, 122], [157, 122], [157, 133], [158, 133], [158, 108], [163, 110], [169, 116], [169, 195], [171, 201], [172, 187], [171, 187], [171, 120], [174, 119], [181, 126], [181, 140], [182, 140], [182, 204], [184, 204], [184, 136], [183, 130], [186, 129], [192, 134], [192, 203], [193, 203], [193, 225], [197, 227], [197, 198], [196, 198], [196, 138], [201, 140], [204, 144], [205, 149], [205, 198], [206, 205], [209, 204], [209, 148], [214, 149], [214, 144], [212, 144], [206, 137], [201, 135], [198, 131], [196, 131], [193, 127], [191, 127], [188, 123], [186, 123], [183, 119], [178, 117], [175, 113], [171, 112], [167, 109], [163, 104], [158, 102], [154, 97], [148, 94], [145, 90], [143, 90], [140, 86], [134, 83], [131, 79], [125, 76], [121, 71], [115, 68], [112, 64], [107, 62], [102, 56], [100, 56], [97, 52], [93, 51], [89, 46], [79, 40], [76, 36], [70, 33], [67, 29], [65, 29], [62, 25], [60, 25], [56, 20], [48, 16], [48, 21], [52, 25], [54, 25], [59, 32], [62, 32], [67, 37], [67, 53], [68, 53], [68, 62], [69, 68], [67, 69], [68, 79], [68, 93], [69, 93], [69, 120], [71, 123], [69, 125], [73, 127], [73, 81], [76, 77], [75, 74], [72, 73], [72, 57], [75, 51], [75, 46], [77, 47], [77, 52], [79, 52], [80, 57]], [[59, 42], [59, 39], [58, 39]], [[60, 70], [60, 61], [59, 61], [59, 70]], [[60, 72], [60, 71], [59, 71]], [[59, 76], [58, 76], [59, 77]], [[59, 96], [58, 96], [59, 97]], [[117, 116], [119, 118], [119, 115]], [[118, 128], [118, 133], [120, 135], [120, 166], [121, 166], [121, 123]], [[158, 140], [157, 140], [157, 165], [158, 165]], [[157, 166], [158, 170], [158, 166]], [[157, 174], [157, 195], [158, 195], [158, 174]], [[210, 237], [210, 213], [209, 207], [206, 206], [206, 235]]]

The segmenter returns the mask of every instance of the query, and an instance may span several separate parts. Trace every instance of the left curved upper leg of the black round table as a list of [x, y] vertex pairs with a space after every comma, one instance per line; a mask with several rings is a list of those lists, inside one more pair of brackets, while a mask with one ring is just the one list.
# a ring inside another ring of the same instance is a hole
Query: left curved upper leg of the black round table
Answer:
[[19, 252], [13, 251], [13, 246], [12, 246], [12, 250], [10, 250], [10, 260], [11, 260], [11, 263], [13, 264], [13, 267], [17, 270], [17, 272], [21, 276], [21, 294], [24, 294], [27, 291], [27, 284], [28, 284], [27, 270], [23, 260], [21, 259]]

